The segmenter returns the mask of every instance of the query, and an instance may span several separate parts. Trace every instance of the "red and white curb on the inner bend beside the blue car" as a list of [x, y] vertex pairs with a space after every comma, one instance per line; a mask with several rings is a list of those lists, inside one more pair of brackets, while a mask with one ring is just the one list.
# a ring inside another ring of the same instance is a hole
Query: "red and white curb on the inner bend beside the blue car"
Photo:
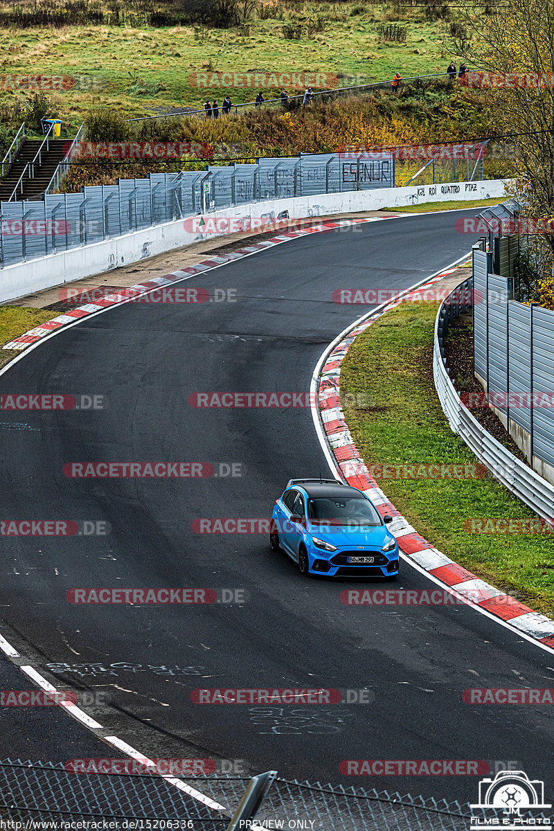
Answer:
[[[467, 256], [457, 262], [463, 262], [466, 258]], [[444, 553], [434, 548], [432, 543], [429, 543], [421, 534], [418, 534], [408, 520], [400, 514], [400, 511], [395, 509], [394, 504], [390, 502], [367, 470], [341, 409], [341, 362], [355, 338], [365, 332], [378, 317], [399, 306], [400, 302], [407, 297], [417, 295], [454, 271], [455, 268], [447, 268], [429, 278], [423, 285], [407, 289], [405, 293], [402, 293], [402, 297], [395, 299], [395, 302], [384, 304], [377, 311], [370, 312], [369, 316], [360, 318], [346, 332], [341, 332], [341, 335], [321, 356], [312, 377], [312, 391], [316, 393], [313, 400], [318, 401], [319, 417], [323, 429], [322, 434], [321, 428], [318, 434], [320, 440], [323, 438], [327, 449], [331, 451], [331, 453], [326, 453], [331, 470], [335, 470], [348, 484], [367, 494], [381, 516], [390, 514], [394, 517], [388, 527], [398, 540], [399, 548], [404, 553], [404, 560], [414, 565], [418, 571], [426, 573], [434, 583], [446, 586], [454, 594], [463, 597], [468, 605], [488, 613], [498, 622], [502, 622], [504, 626], [513, 628], [527, 640], [536, 642], [549, 652], [554, 652], [554, 620], [539, 612], [534, 612], [524, 603], [518, 602], [510, 595], [485, 583], [467, 568], [454, 563]], [[312, 415], [316, 416], [316, 413], [312, 411]], [[318, 426], [316, 424], [316, 429]], [[325, 447], [324, 450], [326, 450]], [[477, 594], [483, 596], [482, 601], [472, 599]]]

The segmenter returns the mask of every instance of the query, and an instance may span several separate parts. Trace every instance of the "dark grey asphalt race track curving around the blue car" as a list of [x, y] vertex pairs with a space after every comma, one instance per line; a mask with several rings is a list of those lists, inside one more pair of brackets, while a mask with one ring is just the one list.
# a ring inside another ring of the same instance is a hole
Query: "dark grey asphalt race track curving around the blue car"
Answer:
[[[298, 238], [189, 281], [235, 289], [237, 302], [115, 307], [62, 331], [2, 376], [2, 393], [107, 400], [99, 411], [2, 413], [4, 518], [111, 526], [104, 537], [2, 538], [2, 632], [27, 642], [34, 666], [53, 672], [62, 688], [105, 691], [112, 723], [131, 745], [470, 802], [475, 776], [346, 778], [339, 764], [488, 760], [494, 774], [497, 762], [511, 761], [530, 778], [552, 780], [547, 707], [468, 706], [462, 691], [554, 686], [554, 656], [468, 607], [342, 606], [341, 590], [376, 581], [302, 579], [265, 536], [191, 529], [203, 517], [268, 518], [287, 479], [329, 470], [309, 409], [199, 409], [189, 396], [309, 390], [326, 345], [369, 311], [337, 305], [331, 293], [406, 288], [446, 267], [475, 241], [454, 229], [464, 213]], [[238, 463], [244, 475], [64, 475], [66, 463], [88, 461]], [[242, 588], [248, 599], [157, 607], [66, 601], [68, 589], [90, 587]], [[404, 565], [400, 587], [429, 581]], [[191, 701], [198, 687], [368, 688], [373, 701], [202, 706]], [[15, 716], [4, 715], [2, 756], [11, 755], [17, 730]], [[51, 741], [37, 734], [32, 758], [52, 758]], [[64, 752], [61, 742], [55, 760]]]

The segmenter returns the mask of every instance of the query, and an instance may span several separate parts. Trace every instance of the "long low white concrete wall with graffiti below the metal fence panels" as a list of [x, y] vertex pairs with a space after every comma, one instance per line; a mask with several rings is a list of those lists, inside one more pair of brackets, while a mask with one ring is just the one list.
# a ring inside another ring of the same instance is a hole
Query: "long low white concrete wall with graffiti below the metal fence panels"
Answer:
[[[378, 210], [424, 202], [447, 202], [449, 199], [503, 199], [504, 180], [486, 179], [483, 182], [456, 184], [424, 184], [408, 188], [352, 190], [341, 194], [298, 196], [293, 199], [270, 199], [266, 202], [240, 205], [235, 208], [205, 214], [204, 219], [217, 217], [258, 218], [264, 214], [288, 211], [292, 219], [346, 214], [356, 211]], [[228, 227], [213, 234], [201, 234], [193, 229], [194, 217], [178, 219], [161, 225], [106, 239], [81, 248], [71, 248], [49, 254], [26, 263], [17, 263], [0, 270], [0, 302], [41, 291], [44, 288], [70, 283], [118, 268], [128, 263], [164, 253], [173, 248], [228, 234]], [[223, 224], [224, 225], [224, 224]], [[246, 243], [248, 244], [248, 243]]]

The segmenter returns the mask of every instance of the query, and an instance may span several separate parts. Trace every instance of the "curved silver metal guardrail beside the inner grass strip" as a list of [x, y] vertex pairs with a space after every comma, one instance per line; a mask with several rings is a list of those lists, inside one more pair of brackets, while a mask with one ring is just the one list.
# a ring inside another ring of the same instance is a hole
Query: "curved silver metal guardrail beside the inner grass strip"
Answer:
[[473, 277], [463, 283], [440, 304], [434, 323], [433, 375], [440, 405], [454, 433], [458, 433], [478, 460], [488, 467], [514, 496], [521, 499], [540, 517], [554, 516], [554, 487], [534, 470], [517, 459], [493, 438], [463, 405], [454, 389], [444, 362], [444, 335], [449, 322], [471, 305]]

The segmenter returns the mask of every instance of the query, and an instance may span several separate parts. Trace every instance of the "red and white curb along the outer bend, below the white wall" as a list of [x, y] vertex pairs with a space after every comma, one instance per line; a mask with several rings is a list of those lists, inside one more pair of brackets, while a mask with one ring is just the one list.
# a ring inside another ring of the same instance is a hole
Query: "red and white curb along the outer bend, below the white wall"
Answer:
[[[414, 216], [414, 214], [405, 215]], [[289, 239], [306, 236], [306, 234], [318, 234], [325, 231], [331, 231], [347, 225], [377, 222], [380, 219], [400, 219], [400, 217], [395, 214], [386, 214], [383, 216], [365, 217], [362, 219], [339, 219], [336, 221], [326, 220], [325, 222], [318, 224], [316, 228], [307, 227], [306, 229], [289, 231], [286, 234], [280, 234], [277, 237], [264, 239], [261, 243], [248, 245], [245, 248], [238, 248], [237, 251], [232, 251], [231, 253], [218, 254], [218, 256], [201, 260], [199, 263], [195, 263], [194, 265], [181, 268], [170, 274], [165, 274], [164, 277], [156, 277], [152, 280], [146, 280], [145, 283], [137, 283], [135, 286], [130, 286], [129, 288], [121, 288], [118, 291], [106, 295], [106, 297], [102, 297], [101, 300], [95, 300], [93, 303], [86, 303], [84, 306], [79, 306], [68, 312], [64, 312], [58, 317], [53, 317], [52, 320], [48, 320], [47, 322], [41, 323], [40, 326], [30, 329], [28, 332], [25, 332], [24, 335], [15, 337], [12, 341], [4, 344], [2, 349], [21, 351], [22, 349], [26, 349], [28, 346], [31, 346], [32, 343], [37, 343], [42, 340], [43, 337], [51, 335], [52, 332], [56, 332], [57, 330], [66, 327], [68, 324], [75, 323], [84, 317], [90, 317], [92, 314], [105, 311], [106, 308], [118, 306], [124, 302], [130, 302], [134, 297], [139, 297], [141, 294], [153, 292], [159, 288], [168, 286], [171, 283], [176, 283], [179, 280], [194, 277], [195, 274], [201, 274], [204, 271], [208, 271], [210, 268], [217, 268], [220, 265], [230, 263], [231, 261], [240, 259], [241, 257], [248, 257], [248, 255], [252, 253], [263, 251], [265, 248], [270, 248], [272, 245], [285, 243]]]

